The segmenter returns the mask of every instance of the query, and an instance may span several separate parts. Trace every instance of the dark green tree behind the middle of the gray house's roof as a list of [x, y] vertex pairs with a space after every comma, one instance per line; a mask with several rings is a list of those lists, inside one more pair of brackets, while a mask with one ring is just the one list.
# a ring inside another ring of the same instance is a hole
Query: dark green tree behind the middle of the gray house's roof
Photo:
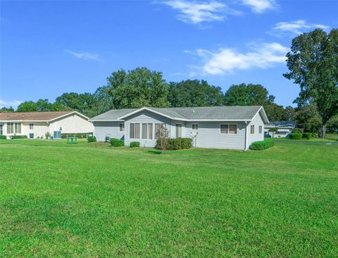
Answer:
[[220, 87], [212, 86], [204, 80], [187, 79], [170, 82], [168, 101], [171, 107], [202, 107], [223, 104]]

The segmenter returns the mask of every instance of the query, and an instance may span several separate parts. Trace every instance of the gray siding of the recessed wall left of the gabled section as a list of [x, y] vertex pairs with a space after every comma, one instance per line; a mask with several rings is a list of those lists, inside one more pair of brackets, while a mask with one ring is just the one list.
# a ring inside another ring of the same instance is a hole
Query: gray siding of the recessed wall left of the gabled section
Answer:
[[104, 141], [106, 136], [111, 138], [123, 138], [124, 131], [120, 131], [122, 122], [94, 122], [94, 136], [96, 141]]

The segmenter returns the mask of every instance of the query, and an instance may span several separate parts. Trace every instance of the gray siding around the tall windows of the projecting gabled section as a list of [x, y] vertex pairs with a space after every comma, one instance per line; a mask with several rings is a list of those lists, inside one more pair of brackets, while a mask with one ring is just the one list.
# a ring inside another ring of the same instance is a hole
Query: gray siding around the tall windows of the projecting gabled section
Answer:
[[[140, 138], [130, 139], [129, 138], [129, 124], [130, 123], [139, 123], [140, 124]], [[153, 124], [153, 139], [142, 139], [142, 123]], [[125, 119], [125, 146], [130, 145], [130, 141], [139, 141], [140, 146], [142, 147], [154, 147], [156, 144], [155, 140], [155, 124], [167, 124], [167, 129], [169, 131], [169, 135], [172, 134], [172, 120], [167, 117], [163, 117], [154, 112], [149, 112], [148, 110], [144, 110], [137, 114], [134, 114], [130, 117], [126, 117]], [[175, 133], [175, 132], [174, 132]]]

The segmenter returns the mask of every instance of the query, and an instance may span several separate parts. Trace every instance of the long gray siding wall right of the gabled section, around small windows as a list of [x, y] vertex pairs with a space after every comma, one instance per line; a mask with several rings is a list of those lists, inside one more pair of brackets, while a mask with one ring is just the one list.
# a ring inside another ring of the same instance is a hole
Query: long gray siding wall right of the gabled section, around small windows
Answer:
[[[196, 147], [244, 150], [244, 122], [187, 122], [185, 137], [191, 137], [192, 124], [199, 124]], [[237, 134], [220, 134], [220, 124], [237, 124]]]

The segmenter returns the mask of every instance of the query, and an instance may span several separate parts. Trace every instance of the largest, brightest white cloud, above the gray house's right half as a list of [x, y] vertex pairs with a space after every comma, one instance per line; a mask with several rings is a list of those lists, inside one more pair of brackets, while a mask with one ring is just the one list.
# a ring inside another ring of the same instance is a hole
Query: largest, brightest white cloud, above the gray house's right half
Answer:
[[234, 70], [273, 67], [284, 63], [289, 49], [279, 43], [251, 44], [251, 51], [239, 53], [235, 49], [223, 48], [218, 51], [198, 49], [195, 54], [204, 63], [199, 70], [208, 75], [230, 74]]

